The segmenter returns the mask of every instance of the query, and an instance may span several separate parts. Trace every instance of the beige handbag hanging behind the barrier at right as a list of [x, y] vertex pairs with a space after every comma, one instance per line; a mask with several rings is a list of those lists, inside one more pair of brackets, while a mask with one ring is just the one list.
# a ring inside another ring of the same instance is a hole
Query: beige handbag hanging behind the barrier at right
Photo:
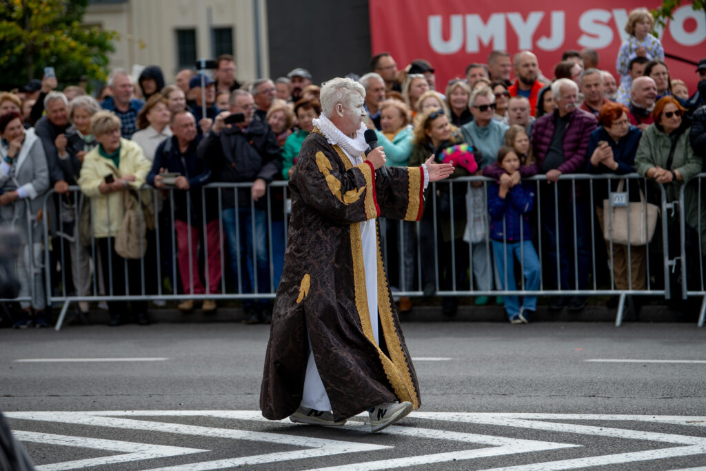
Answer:
[[654, 236], [659, 206], [645, 203], [642, 188], [640, 188], [640, 202], [630, 203], [628, 193], [623, 192], [624, 183], [625, 179], [621, 179], [617, 191], [611, 191], [609, 199], [603, 200], [603, 237], [606, 242], [612, 240], [614, 244], [628, 245], [629, 242], [630, 245], [635, 246], [646, 245]]

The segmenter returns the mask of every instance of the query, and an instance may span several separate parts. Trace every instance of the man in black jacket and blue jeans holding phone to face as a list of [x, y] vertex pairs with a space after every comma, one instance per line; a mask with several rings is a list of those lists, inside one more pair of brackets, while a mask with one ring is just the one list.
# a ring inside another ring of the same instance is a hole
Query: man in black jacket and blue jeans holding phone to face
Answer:
[[[268, 293], [277, 280], [270, 280], [266, 192], [270, 181], [282, 171], [282, 155], [270, 126], [253, 118], [256, 107], [250, 93], [234, 90], [229, 105], [229, 111], [218, 114], [198, 145], [198, 157], [213, 171], [213, 181], [253, 183], [250, 188], [222, 191], [223, 228], [241, 292]], [[237, 115], [236, 122], [226, 124], [231, 114]], [[247, 299], [243, 308], [246, 323], [270, 318], [266, 299]]]

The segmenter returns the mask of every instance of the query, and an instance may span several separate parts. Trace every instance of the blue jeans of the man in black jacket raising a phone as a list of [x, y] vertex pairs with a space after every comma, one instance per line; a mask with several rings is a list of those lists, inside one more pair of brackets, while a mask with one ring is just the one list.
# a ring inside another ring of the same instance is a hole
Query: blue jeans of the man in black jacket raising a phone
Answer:
[[[237, 226], [236, 210], [238, 213]], [[258, 208], [251, 212], [249, 206], [226, 208], [223, 210], [223, 229], [230, 255], [230, 268], [236, 286], [241, 287], [240, 292], [242, 294], [269, 293], [270, 263], [267, 244], [267, 212]], [[240, 264], [240, 270], [238, 270], [238, 264]], [[247, 299], [243, 301], [243, 307], [266, 303], [266, 299]]]

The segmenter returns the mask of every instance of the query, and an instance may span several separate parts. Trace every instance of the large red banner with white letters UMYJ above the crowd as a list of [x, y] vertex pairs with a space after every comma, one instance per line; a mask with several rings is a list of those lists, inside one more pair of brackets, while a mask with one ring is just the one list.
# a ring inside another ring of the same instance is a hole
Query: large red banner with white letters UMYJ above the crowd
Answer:
[[[501, 4], [500, 4], [501, 3]], [[511, 55], [523, 49], [537, 54], [544, 76], [566, 49], [590, 47], [599, 53], [599, 67], [616, 75], [616, 56], [628, 13], [656, 8], [635, 0], [592, 2], [489, 0], [370, 0], [372, 54], [388, 51], [400, 69], [414, 59], [436, 68], [436, 88], [443, 93], [451, 78], [464, 77], [472, 62], [486, 63], [493, 49]], [[706, 57], [706, 14], [690, 4], [674, 12], [661, 32], [664, 52], [698, 62]], [[672, 79], [681, 78], [696, 90], [696, 66], [666, 58]]]

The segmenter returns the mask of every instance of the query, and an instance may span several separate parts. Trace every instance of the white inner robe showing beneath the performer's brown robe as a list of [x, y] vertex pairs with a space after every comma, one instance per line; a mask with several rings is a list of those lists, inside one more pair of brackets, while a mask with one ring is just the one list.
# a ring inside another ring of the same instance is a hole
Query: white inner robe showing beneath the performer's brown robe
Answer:
[[[351, 163], [356, 166], [363, 162], [362, 156], [352, 157], [343, 150]], [[378, 337], [378, 258], [376, 239], [375, 218], [360, 223], [361, 243], [363, 246], [363, 265], [365, 267], [365, 289], [368, 294], [368, 314], [373, 327], [375, 342], [379, 344]], [[318, 374], [316, 362], [313, 359], [311, 350], [311, 338], [309, 339], [309, 360], [306, 362], [306, 376], [304, 377], [304, 393], [301, 398], [301, 405], [309, 409], [332, 410], [328, 394], [321, 382]]]

